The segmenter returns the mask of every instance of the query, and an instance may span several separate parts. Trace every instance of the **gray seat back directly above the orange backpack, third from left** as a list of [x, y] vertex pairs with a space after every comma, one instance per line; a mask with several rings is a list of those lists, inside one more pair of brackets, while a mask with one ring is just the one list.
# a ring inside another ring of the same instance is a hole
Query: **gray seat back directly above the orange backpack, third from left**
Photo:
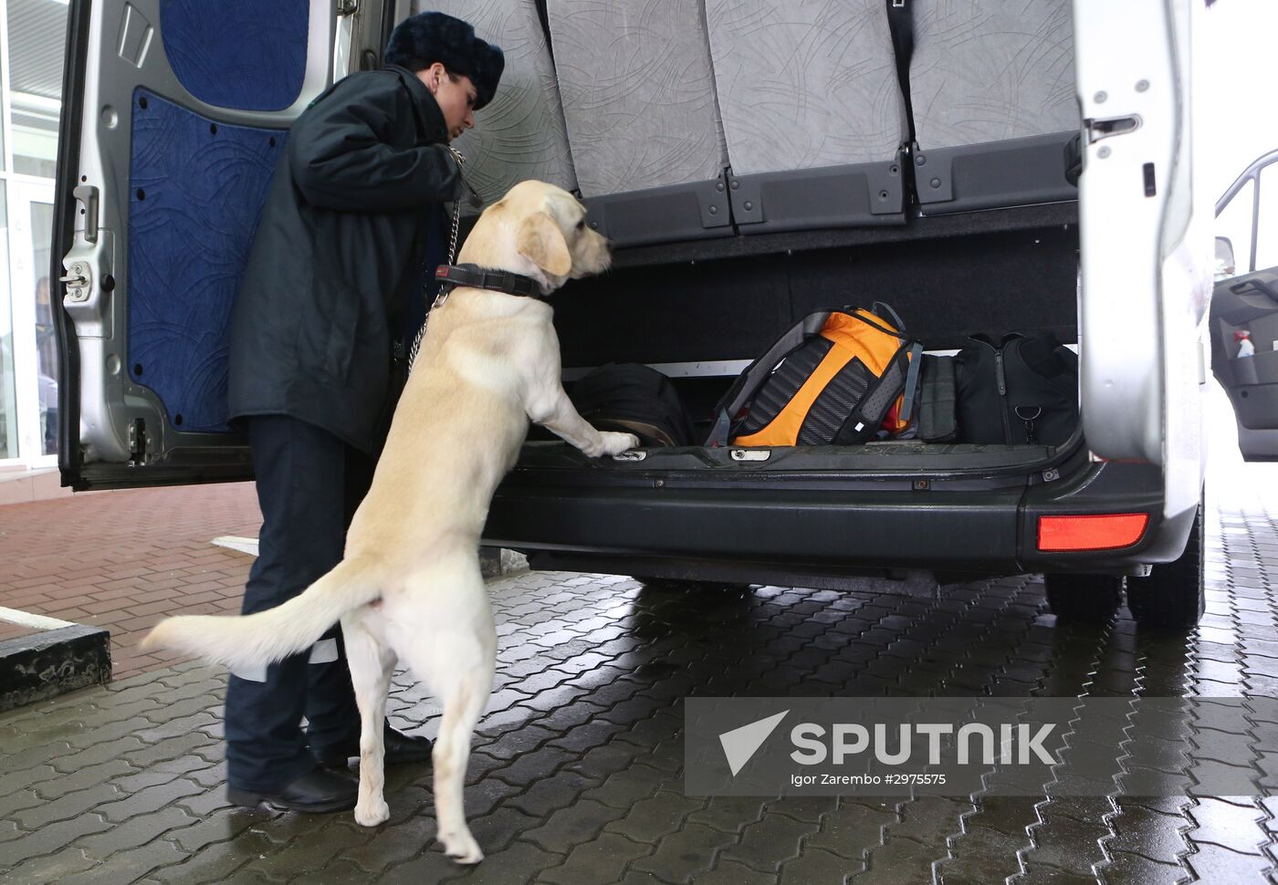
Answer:
[[743, 234], [904, 222], [883, 0], [705, 0]]

